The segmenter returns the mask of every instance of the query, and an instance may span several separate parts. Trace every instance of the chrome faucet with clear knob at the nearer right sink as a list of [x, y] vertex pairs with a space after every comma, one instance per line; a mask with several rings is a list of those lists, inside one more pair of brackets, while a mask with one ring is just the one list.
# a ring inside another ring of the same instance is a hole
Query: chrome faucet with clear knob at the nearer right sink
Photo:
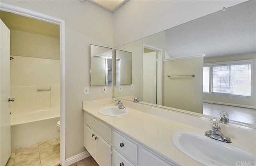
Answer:
[[209, 136], [210, 138], [214, 138], [216, 140], [220, 140], [222, 142], [231, 143], [231, 139], [224, 134], [222, 134], [220, 130], [220, 123], [218, 119], [211, 119], [212, 129], [206, 131], [204, 135]]

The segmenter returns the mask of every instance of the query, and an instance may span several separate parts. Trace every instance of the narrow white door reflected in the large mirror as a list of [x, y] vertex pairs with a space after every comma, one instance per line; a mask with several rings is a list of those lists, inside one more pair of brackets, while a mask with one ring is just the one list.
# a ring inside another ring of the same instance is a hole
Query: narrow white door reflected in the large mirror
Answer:
[[142, 64], [142, 101], [156, 104], [157, 51], [144, 53]]

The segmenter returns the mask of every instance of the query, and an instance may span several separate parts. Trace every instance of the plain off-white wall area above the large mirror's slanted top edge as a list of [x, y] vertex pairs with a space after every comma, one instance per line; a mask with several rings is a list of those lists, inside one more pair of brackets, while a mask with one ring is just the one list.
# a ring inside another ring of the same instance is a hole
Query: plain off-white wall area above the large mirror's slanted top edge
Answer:
[[129, 0], [114, 12], [114, 47], [156, 34], [244, 0]]

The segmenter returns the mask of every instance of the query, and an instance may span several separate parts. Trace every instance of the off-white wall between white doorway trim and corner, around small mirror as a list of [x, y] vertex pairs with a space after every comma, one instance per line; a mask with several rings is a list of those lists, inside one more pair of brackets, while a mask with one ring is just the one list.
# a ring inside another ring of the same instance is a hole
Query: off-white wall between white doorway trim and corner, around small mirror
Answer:
[[113, 47], [113, 14], [91, 2], [1, 1], [65, 20], [66, 45], [66, 158], [84, 151], [82, 101], [112, 97], [112, 86], [91, 86], [90, 44]]

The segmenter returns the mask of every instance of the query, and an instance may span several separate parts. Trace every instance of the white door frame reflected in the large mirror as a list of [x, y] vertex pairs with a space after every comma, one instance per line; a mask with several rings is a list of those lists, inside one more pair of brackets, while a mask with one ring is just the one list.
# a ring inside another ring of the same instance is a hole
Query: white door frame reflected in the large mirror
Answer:
[[[153, 47], [151, 45], [142, 44], [142, 54], [144, 54], [144, 48], [152, 49], [157, 52], [157, 95], [156, 100], [158, 105], [162, 105], [162, 71], [163, 71], [163, 61], [162, 61], [162, 49]], [[143, 65], [143, 64], [142, 64]]]

